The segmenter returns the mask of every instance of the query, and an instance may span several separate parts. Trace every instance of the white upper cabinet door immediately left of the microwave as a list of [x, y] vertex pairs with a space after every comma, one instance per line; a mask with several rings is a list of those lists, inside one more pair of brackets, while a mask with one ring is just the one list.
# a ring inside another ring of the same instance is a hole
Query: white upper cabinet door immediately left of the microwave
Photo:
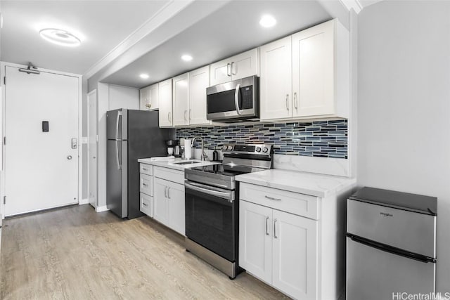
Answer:
[[210, 124], [206, 119], [206, 88], [210, 86], [210, 66], [189, 72], [189, 124]]

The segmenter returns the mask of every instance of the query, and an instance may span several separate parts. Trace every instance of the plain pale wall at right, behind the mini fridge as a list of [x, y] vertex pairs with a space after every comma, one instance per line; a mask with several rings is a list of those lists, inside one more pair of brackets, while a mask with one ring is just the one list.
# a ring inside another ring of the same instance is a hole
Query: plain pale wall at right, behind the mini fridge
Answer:
[[358, 183], [438, 197], [437, 290], [450, 292], [450, 3], [383, 1], [358, 30]]

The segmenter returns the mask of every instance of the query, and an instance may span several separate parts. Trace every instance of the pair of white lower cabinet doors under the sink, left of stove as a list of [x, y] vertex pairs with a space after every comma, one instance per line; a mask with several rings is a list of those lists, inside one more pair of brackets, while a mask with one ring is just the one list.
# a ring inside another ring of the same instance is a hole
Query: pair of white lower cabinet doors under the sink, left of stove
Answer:
[[184, 185], [155, 177], [153, 193], [153, 218], [185, 235]]

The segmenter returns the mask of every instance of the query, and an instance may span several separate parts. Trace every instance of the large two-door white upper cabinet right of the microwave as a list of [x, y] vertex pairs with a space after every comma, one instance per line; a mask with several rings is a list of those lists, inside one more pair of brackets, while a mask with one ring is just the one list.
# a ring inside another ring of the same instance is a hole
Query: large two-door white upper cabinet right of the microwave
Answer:
[[[279, 66], [273, 58], [287, 55], [289, 42], [290, 70], [286, 67], [288, 58], [277, 58]], [[349, 32], [337, 19], [261, 49], [262, 120], [349, 117]], [[282, 81], [289, 81], [292, 88]]]

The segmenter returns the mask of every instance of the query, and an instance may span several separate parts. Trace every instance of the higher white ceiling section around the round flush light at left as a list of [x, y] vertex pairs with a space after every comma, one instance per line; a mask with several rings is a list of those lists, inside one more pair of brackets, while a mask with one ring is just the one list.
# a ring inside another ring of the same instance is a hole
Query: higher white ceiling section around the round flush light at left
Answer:
[[[1, 0], [0, 59], [84, 74], [169, 2]], [[51, 44], [39, 37], [44, 27], [78, 34], [82, 45], [72, 48]]]

